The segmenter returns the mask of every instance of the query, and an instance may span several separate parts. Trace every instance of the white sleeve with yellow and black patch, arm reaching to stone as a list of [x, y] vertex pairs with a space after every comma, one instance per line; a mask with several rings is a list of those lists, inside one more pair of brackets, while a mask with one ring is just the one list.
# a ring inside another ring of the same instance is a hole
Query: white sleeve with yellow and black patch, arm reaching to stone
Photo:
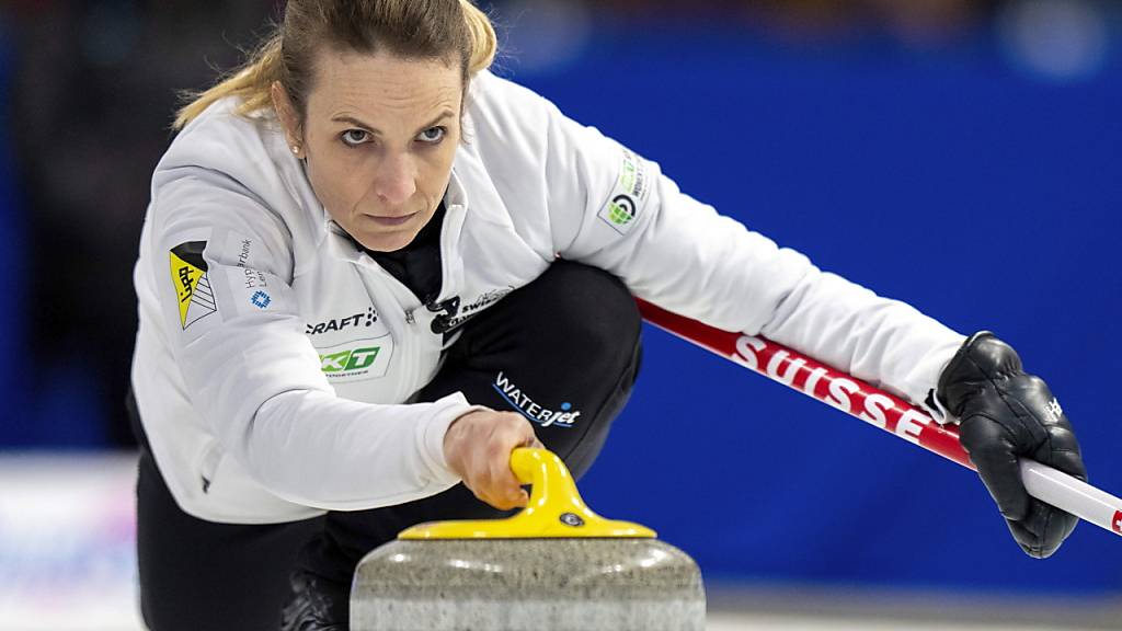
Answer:
[[360, 510], [458, 482], [443, 456], [462, 395], [374, 405], [337, 397], [303, 332], [285, 223], [237, 181], [177, 167], [154, 182], [149, 273], [197, 415], [277, 496]]

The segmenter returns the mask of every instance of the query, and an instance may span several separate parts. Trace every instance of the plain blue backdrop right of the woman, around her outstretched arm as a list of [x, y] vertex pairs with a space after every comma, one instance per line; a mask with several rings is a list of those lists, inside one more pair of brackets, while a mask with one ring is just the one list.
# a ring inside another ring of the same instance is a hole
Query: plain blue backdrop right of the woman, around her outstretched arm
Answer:
[[[679, 29], [680, 30], [680, 29]], [[660, 162], [684, 191], [948, 326], [996, 331], [1054, 387], [1092, 481], [1122, 492], [1122, 67], [1022, 74], [987, 34], [946, 51], [800, 49], [733, 33], [601, 30], [514, 77]], [[709, 576], [1122, 592], [1080, 525], [1023, 556], [976, 476], [655, 330], [582, 483]]]

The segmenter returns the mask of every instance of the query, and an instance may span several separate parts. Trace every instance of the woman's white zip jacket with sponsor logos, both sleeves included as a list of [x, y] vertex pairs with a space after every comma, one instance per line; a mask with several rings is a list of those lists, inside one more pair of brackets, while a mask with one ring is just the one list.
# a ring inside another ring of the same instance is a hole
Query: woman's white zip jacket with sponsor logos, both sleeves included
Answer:
[[[717, 214], [533, 92], [486, 72], [471, 91], [441, 231], [439, 300], [459, 296], [461, 313], [561, 256], [913, 402], [962, 344]], [[135, 272], [132, 383], [172, 493], [199, 518], [263, 523], [456, 484], [443, 436], [471, 402], [404, 403], [439, 367], [434, 314], [330, 220], [275, 119], [233, 104], [208, 109], [156, 167]]]

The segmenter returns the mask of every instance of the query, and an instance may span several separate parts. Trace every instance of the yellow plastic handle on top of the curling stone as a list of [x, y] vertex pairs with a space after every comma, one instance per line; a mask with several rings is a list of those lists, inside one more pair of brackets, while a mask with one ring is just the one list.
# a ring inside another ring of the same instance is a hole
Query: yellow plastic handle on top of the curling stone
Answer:
[[403, 530], [398, 539], [548, 539], [626, 537], [653, 539], [655, 532], [637, 523], [604, 519], [577, 493], [568, 467], [548, 449], [518, 448], [511, 452], [511, 470], [532, 484], [530, 503], [518, 514], [497, 520], [430, 522]]

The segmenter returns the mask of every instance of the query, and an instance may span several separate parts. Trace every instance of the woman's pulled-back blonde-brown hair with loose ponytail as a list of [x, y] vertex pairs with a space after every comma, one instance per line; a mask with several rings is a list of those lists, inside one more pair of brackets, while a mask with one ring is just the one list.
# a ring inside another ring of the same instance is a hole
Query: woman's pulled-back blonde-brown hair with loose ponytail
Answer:
[[323, 45], [459, 62], [465, 91], [472, 76], [490, 67], [498, 48], [490, 18], [471, 0], [288, 0], [280, 24], [242, 66], [206, 90], [185, 94], [190, 102], [176, 112], [173, 129], [226, 97], [241, 98], [237, 112], [242, 116], [269, 109], [276, 81], [303, 120], [314, 54]]

